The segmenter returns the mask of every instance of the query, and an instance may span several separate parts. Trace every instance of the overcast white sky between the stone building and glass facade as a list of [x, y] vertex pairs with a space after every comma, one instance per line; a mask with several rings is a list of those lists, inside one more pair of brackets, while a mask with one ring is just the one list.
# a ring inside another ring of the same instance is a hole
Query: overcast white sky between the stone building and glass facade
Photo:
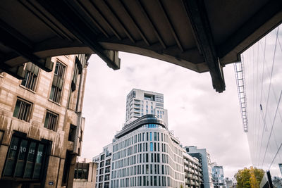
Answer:
[[119, 57], [120, 70], [112, 70], [96, 55], [90, 58], [83, 106], [83, 158], [92, 159], [112, 142], [125, 122], [126, 95], [136, 88], [164, 94], [168, 129], [183, 146], [207, 149], [212, 162], [223, 165], [225, 177], [251, 165], [233, 65], [223, 69], [226, 91], [219, 94], [209, 73], [135, 54], [120, 52]]

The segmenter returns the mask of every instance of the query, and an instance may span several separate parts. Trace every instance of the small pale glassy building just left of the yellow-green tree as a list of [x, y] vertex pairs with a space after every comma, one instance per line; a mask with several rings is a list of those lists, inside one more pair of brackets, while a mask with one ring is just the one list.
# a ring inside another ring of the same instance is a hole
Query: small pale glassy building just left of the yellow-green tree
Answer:
[[217, 163], [212, 163], [212, 182], [214, 182], [214, 188], [226, 188], [223, 167]]

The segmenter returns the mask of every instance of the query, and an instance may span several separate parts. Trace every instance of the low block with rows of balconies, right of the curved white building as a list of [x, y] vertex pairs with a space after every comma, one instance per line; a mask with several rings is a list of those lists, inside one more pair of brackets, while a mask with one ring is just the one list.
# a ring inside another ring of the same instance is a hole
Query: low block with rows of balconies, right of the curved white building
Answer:
[[203, 183], [202, 161], [190, 156], [183, 149], [185, 187], [200, 188]]

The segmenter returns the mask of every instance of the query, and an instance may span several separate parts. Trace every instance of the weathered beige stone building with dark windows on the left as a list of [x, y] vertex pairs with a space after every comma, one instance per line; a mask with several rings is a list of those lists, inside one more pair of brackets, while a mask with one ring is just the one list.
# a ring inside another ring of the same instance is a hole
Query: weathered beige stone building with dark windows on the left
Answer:
[[72, 187], [85, 119], [88, 55], [57, 56], [0, 74], [0, 187]]

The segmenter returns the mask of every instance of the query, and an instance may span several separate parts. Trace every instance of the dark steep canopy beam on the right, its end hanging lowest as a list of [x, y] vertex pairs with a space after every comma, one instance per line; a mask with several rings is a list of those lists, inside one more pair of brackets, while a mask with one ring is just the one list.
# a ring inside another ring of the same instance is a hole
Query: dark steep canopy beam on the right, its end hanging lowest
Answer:
[[190, 23], [195, 33], [198, 44], [209, 67], [212, 84], [216, 92], [225, 90], [225, 82], [219, 58], [216, 54], [212, 32], [209, 27], [206, 8], [203, 0], [183, 0]]

